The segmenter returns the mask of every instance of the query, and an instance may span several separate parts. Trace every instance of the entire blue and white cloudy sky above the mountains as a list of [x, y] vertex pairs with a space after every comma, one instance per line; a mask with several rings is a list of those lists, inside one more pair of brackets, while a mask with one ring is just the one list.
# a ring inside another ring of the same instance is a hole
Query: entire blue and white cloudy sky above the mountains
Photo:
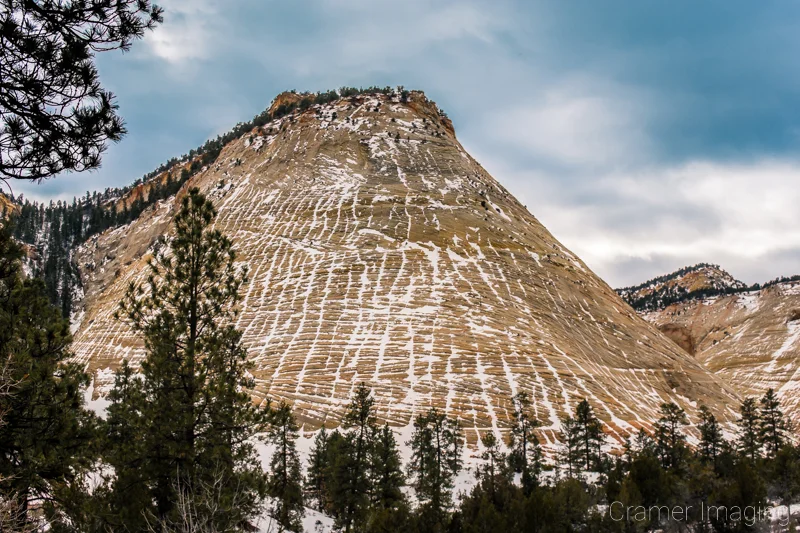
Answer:
[[38, 199], [130, 183], [285, 89], [419, 88], [612, 286], [800, 274], [800, 3], [162, 0], [102, 54], [129, 135]]

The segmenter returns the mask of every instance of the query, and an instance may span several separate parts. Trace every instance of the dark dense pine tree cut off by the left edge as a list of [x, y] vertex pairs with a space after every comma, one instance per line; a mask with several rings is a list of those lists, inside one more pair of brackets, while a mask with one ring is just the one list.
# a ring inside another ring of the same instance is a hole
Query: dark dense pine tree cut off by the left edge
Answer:
[[0, 493], [29, 525], [31, 502], [51, 519], [69, 513], [94, 459], [96, 418], [84, 408], [89, 378], [68, 362], [69, 324], [40, 280], [24, 278], [21, 249], [0, 225]]

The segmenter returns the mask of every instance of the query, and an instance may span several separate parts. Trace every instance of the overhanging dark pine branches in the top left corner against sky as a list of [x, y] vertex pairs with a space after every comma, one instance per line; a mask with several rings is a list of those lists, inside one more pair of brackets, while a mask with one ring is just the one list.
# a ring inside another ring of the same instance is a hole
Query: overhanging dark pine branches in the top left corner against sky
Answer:
[[42, 180], [100, 166], [125, 133], [94, 55], [128, 50], [161, 22], [149, 0], [3, 0], [0, 180]]

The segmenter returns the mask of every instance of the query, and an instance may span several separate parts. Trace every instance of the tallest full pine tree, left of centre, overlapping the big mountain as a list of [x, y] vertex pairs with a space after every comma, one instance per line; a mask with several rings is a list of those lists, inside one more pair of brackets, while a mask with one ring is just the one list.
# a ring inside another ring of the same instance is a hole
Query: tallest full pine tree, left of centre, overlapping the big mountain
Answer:
[[[234, 327], [246, 272], [236, 266], [230, 240], [210, 229], [215, 216], [211, 203], [191, 189], [170, 246], [150, 262], [146, 290], [131, 284], [120, 303], [118, 316], [142, 335], [147, 354], [142, 379], [127, 385], [141, 390], [120, 391], [138, 404], [120, 407], [120, 418], [110, 414], [109, 423], [124, 426], [134, 413], [143, 443], [134, 450], [138, 455], [112, 466], [124, 476], [130, 468], [145, 474], [153, 505], [131, 513], [171, 523], [179, 496], [205, 500], [213, 488], [217, 500], [201, 502], [194, 512], [214, 527], [243, 528], [264, 496], [266, 479], [250, 439], [266, 428], [268, 410], [251, 402], [254, 382]], [[115, 483], [112, 492], [126, 490]]]

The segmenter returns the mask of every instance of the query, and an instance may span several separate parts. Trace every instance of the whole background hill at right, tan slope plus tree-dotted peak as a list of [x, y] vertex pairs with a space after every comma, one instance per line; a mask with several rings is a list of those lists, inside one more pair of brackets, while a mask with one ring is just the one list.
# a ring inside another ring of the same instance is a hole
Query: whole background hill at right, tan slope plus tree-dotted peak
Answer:
[[[670, 286], [688, 290], [670, 301]], [[647, 299], [645, 291], [660, 296]], [[619, 292], [742, 396], [775, 389], [800, 423], [800, 279], [746, 287], [719, 267], [699, 265]]]

